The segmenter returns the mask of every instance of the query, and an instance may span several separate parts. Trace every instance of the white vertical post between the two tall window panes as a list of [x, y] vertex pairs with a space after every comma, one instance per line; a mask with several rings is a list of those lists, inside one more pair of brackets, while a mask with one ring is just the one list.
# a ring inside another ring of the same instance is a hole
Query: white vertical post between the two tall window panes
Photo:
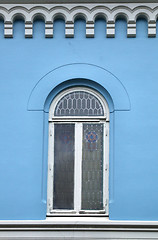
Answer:
[[74, 208], [77, 213], [81, 210], [81, 177], [82, 177], [82, 123], [75, 123], [75, 184]]

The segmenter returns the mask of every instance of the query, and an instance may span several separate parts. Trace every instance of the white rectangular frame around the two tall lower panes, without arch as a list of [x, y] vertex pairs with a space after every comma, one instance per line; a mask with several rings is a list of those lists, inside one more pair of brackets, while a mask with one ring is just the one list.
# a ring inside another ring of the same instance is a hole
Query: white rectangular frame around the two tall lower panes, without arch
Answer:
[[[47, 214], [104, 214], [108, 216], [109, 200], [109, 122], [103, 124], [103, 210], [82, 210], [82, 134], [83, 124], [75, 124], [75, 158], [74, 158], [74, 210], [53, 209], [53, 170], [54, 170], [54, 123], [49, 124], [49, 150], [48, 150], [48, 189]], [[96, 122], [98, 124], [98, 122]], [[59, 124], [62, 124], [60, 122]], [[94, 122], [93, 122], [94, 124]], [[78, 139], [78, 141], [76, 141]], [[107, 168], [107, 169], [106, 169]]]

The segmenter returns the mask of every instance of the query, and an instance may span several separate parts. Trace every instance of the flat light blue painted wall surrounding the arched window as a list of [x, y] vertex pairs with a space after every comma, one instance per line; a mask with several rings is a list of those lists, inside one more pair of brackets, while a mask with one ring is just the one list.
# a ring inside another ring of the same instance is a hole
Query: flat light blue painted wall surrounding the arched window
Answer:
[[112, 113], [109, 218], [158, 220], [158, 38], [147, 38], [142, 19], [136, 38], [126, 38], [123, 20], [114, 39], [105, 37], [103, 20], [95, 25], [95, 38], [85, 38], [85, 22], [77, 20], [75, 37], [66, 39], [58, 20], [54, 38], [45, 39], [44, 23], [36, 21], [34, 37], [25, 39], [24, 23], [16, 21], [14, 38], [4, 39], [0, 23], [0, 219], [46, 218], [48, 114], [28, 110], [28, 101], [53, 69], [88, 63], [115, 75], [131, 103]]

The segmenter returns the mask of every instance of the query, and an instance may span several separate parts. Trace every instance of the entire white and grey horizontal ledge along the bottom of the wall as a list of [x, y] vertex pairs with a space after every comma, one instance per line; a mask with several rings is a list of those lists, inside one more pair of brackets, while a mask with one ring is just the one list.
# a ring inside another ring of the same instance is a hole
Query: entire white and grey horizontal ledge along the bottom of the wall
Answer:
[[158, 223], [110, 221], [105, 217], [51, 217], [50, 220], [0, 221], [0, 240], [157, 239]]

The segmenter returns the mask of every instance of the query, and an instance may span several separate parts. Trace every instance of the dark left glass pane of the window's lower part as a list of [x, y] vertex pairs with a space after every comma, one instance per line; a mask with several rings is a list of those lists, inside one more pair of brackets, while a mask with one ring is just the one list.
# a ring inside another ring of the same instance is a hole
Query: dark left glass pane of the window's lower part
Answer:
[[74, 124], [54, 124], [54, 209], [74, 208]]

